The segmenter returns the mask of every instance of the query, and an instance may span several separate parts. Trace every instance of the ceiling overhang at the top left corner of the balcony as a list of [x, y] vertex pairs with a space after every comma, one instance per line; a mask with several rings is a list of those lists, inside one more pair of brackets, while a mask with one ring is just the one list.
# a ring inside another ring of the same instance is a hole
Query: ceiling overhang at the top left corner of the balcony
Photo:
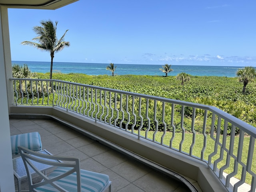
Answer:
[[78, 0], [0, 0], [0, 6], [8, 8], [55, 10]]

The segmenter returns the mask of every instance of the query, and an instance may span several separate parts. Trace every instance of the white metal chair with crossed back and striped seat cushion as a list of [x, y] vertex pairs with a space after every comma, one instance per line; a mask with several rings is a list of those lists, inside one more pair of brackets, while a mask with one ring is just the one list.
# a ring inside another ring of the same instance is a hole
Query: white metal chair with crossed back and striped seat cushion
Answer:
[[[30, 192], [104, 192], [107, 188], [111, 192], [109, 176], [80, 170], [79, 158], [40, 154], [21, 146], [18, 149], [28, 174]], [[45, 175], [38, 169], [38, 164], [48, 164], [56, 168], [49, 175]], [[42, 180], [33, 183], [31, 170]]]

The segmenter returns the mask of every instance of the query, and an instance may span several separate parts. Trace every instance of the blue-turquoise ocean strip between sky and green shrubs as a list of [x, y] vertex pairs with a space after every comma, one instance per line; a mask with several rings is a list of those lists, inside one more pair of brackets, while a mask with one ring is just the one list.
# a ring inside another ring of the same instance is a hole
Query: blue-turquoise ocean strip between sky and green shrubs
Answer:
[[[32, 62], [32, 61], [12, 61], [12, 64], [27, 64], [32, 72], [47, 73], [50, 72], [50, 62]], [[61, 73], [83, 73], [87, 75], [111, 75], [111, 71], [106, 70], [109, 64], [103, 63], [70, 63], [70, 62], [54, 62], [53, 72]], [[139, 64], [114, 64], [116, 70], [115, 75], [151, 75], [164, 76], [165, 74], [159, 70], [162, 65], [139, 65]], [[172, 72], [168, 76], [176, 76], [181, 72], [193, 76], [225, 76], [235, 77], [239, 66], [188, 66], [188, 65], [172, 65]]]

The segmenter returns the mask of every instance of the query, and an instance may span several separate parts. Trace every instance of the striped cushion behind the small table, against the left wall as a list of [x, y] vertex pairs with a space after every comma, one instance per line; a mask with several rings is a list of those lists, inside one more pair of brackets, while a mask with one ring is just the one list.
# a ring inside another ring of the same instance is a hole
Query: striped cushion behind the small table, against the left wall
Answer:
[[11, 136], [12, 154], [18, 154], [18, 146], [26, 147], [33, 151], [42, 150], [41, 137], [38, 132], [24, 133]]

